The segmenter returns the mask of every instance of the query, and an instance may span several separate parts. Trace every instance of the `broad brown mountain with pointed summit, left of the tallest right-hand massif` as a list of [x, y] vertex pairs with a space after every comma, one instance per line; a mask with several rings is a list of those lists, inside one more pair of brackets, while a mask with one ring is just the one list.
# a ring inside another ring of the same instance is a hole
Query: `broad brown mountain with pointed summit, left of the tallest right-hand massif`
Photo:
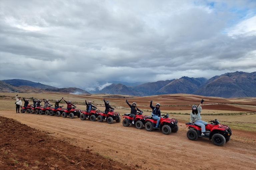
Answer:
[[207, 80], [206, 78], [190, 78], [181, 77], [180, 79], [173, 80], [161, 89], [155, 92], [155, 95], [161, 94], [174, 94], [174, 93], [187, 93], [191, 94], [198, 90], [200, 85]]

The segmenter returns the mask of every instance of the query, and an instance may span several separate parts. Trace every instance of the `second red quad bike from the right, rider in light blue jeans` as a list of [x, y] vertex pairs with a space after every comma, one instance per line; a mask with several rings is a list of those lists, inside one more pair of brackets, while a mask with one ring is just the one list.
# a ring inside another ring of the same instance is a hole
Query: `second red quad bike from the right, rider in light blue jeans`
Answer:
[[179, 130], [178, 121], [174, 118], [169, 118], [169, 115], [161, 115], [158, 128], [156, 128], [157, 119], [152, 116], [146, 118], [145, 129], [147, 131], [152, 131], [153, 129], [162, 130], [164, 134], [170, 134], [171, 132], [177, 132]]

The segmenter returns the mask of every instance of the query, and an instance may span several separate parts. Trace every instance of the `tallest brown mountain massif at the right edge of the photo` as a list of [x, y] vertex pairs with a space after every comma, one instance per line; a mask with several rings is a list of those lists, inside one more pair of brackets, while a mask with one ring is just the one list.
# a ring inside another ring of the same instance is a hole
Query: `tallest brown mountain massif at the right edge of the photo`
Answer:
[[256, 97], [256, 72], [234, 72], [214, 76], [192, 94], [223, 98]]

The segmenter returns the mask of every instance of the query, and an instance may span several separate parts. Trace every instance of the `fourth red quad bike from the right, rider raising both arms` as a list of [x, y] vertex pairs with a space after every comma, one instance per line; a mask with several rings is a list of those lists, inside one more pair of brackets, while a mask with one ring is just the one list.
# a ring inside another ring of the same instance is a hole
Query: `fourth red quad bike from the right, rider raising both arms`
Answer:
[[114, 112], [114, 109], [111, 109], [107, 114], [105, 114], [105, 112], [98, 113], [97, 120], [98, 122], [103, 122], [106, 120], [109, 124], [112, 124], [115, 120], [117, 123], [119, 123], [121, 122], [121, 117], [119, 115], [120, 114], [118, 112]]

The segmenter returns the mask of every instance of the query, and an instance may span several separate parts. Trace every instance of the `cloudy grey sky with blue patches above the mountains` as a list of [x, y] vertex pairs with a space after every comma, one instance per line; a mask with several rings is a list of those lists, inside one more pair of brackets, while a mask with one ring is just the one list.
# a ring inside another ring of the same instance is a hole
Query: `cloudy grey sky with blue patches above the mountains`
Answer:
[[255, 0], [1, 0], [0, 80], [93, 91], [256, 71]]

